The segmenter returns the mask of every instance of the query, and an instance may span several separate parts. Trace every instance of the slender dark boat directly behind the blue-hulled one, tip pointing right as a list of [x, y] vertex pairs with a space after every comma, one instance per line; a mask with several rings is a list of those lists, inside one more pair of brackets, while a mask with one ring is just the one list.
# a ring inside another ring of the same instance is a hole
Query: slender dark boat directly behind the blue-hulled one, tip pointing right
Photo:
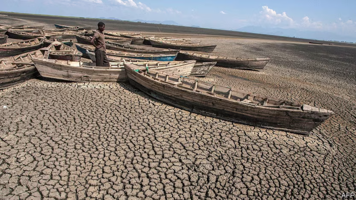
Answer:
[[179, 44], [150, 38], [151, 45], [158, 48], [182, 49], [185, 51], [213, 52], [216, 45]]

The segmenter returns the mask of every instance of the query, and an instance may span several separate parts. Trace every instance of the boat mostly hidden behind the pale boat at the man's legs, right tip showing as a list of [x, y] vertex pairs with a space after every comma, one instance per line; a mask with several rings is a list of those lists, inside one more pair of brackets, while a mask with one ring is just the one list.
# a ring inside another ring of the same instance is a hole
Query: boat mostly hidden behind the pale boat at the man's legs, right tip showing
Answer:
[[[87, 55], [90, 57], [91, 61], [95, 62], [95, 53], [94, 52], [89, 52], [87, 50]], [[142, 60], [142, 59], [135, 59], [135, 58], [122, 58], [122, 57], [116, 57], [116, 56], [110, 56], [106, 55], [108, 57], [109, 62], [147, 62], [147, 60]], [[167, 62], [164, 61], [156, 61], [159, 64], [164, 64]], [[182, 61], [170, 61], [172, 64], [176, 64]], [[216, 62], [205, 62], [205, 63], [194, 63], [194, 67], [190, 74], [185, 74], [185, 75], [190, 75], [193, 77], [205, 77], [206, 74], [210, 72], [210, 70], [215, 66]]]

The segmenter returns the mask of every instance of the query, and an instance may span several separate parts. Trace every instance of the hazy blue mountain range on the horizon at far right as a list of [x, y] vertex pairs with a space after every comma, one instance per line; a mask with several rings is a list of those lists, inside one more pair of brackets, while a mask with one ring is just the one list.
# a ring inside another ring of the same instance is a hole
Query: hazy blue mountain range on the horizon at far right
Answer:
[[231, 31], [260, 33], [266, 35], [277, 35], [286, 37], [307, 38], [313, 40], [332, 40], [332, 41], [347, 41], [356, 42], [355, 36], [342, 36], [336, 33], [324, 31], [298, 31], [293, 28], [264, 28], [260, 26], [245, 26]]

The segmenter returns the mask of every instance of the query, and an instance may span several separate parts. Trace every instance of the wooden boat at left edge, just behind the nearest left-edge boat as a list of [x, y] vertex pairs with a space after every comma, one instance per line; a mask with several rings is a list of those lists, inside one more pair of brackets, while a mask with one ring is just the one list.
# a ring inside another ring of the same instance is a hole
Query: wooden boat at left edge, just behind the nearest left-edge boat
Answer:
[[0, 44], [0, 57], [13, 56], [34, 51], [42, 47], [43, 38], [35, 38], [21, 42]]

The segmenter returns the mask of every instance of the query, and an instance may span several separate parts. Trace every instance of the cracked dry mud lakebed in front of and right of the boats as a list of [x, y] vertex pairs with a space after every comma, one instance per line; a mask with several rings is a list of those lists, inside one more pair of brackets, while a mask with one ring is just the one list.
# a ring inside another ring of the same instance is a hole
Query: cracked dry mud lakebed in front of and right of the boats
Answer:
[[[309, 136], [177, 109], [129, 83], [0, 91], [0, 199], [340, 199], [355, 192], [356, 48], [194, 38], [270, 57], [203, 80], [335, 111]], [[6, 105], [7, 108], [3, 108]]]

